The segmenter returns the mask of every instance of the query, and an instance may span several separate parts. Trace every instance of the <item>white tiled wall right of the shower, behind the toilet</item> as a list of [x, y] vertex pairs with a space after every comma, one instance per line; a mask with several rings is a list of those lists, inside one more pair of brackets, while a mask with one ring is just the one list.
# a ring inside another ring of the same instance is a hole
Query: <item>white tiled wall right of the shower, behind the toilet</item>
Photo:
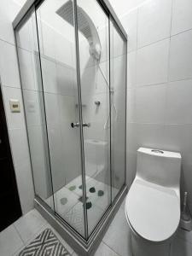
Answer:
[[179, 151], [192, 211], [192, 2], [139, 2], [111, 0], [129, 38], [127, 182], [138, 147]]

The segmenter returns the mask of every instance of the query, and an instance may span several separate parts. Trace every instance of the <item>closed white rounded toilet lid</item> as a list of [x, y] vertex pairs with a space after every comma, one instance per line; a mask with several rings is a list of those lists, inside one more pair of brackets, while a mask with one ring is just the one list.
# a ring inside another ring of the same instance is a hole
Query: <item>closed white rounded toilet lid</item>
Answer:
[[165, 241], [177, 230], [180, 200], [175, 190], [136, 179], [125, 201], [131, 228], [148, 241]]

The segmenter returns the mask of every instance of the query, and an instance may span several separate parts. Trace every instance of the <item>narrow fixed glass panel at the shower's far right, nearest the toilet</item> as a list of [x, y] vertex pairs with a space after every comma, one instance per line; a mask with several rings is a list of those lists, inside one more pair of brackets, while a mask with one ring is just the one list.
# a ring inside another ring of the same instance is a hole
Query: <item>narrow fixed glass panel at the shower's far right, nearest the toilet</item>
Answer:
[[126, 163], [126, 41], [110, 21], [112, 199], [125, 185]]

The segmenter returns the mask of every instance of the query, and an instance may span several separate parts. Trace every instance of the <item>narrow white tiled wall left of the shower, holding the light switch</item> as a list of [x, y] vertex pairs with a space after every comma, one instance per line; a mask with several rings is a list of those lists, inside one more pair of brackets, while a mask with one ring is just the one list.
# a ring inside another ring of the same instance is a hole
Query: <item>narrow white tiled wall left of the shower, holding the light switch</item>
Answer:
[[[20, 10], [13, 0], [0, 3], [0, 77], [3, 101], [9, 128], [9, 140], [15, 166], [15, 175], [20, 195], [22, 212], [33, 207], [32, 171], [26, 139], [26, 125], [20, 91], [20, 77], [16, 59], [15, 38], [12, 20]], [[19, 99], [20, 113], [11, 113], [9, 99]]]

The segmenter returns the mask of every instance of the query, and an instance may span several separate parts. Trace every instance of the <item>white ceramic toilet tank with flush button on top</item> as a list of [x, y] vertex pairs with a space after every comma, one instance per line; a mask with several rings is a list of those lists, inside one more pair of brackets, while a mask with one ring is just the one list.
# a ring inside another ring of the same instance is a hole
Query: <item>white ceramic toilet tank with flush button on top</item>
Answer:
[[166, 187], [180, 184], [181, 154], [154, 148], [138, 148], [137, 177]]

